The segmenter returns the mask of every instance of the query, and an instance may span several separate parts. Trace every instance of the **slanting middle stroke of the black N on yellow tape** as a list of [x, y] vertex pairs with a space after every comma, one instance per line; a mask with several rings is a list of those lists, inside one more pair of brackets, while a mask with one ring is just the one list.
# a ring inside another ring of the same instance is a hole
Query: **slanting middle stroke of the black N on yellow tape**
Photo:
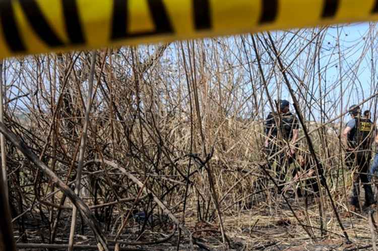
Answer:
[[33, 30], [44, 42], [51, 47], [64, 45], [48, 25], [35, 0], [23, 0], [20, 1], [20, 5]]

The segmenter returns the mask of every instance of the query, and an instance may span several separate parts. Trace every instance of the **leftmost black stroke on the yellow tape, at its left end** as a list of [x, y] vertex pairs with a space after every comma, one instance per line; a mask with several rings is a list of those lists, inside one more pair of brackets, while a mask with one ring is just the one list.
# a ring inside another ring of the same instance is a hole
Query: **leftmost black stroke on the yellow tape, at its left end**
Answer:
[[0, 1], [0, 22], [3, 28], [5, 41], [10, 50], [13, 52], [26, 51], [24, 42], [21, 39], [20, 31], [17, 28], [11, 0]]

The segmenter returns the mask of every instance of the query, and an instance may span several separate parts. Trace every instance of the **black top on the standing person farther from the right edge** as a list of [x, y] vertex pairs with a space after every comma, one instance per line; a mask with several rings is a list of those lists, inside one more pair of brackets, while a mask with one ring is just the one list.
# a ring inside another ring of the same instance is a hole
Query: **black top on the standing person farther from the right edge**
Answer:
[[[276, 121], [278, 122], [278, 126]], [[269, 135], [269, 132], [272, 130], [271, 139], [278, 138], [281, 135], [283, 139], [291, 140], [294, 129], [299, 129], [299, 124], [298, 119], [291, 112], [283, 113], [281, 116], [270, 112], [265, 120], [265, 134]], [[280, 130], [280, 134], [278, 134], [278, 130]]]

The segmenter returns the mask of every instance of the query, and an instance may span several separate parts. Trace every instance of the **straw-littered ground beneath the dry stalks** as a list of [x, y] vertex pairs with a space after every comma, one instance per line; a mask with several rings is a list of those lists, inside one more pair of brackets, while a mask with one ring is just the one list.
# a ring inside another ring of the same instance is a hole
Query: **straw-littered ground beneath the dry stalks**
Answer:
[[[211, 222], [198, 222], [194, 209], [187, 209], [185, 225], [199, 243], [195, 244], [196, 250], [372, 250], [371, 231], [367, 217], [369, 212], [375, 210], [374, 208], [352, 213], [348, 212], [347, 204], [337, 203], [338, 214], [351, 241], [351, 243], [348, 243], [332, 208], [326, 208], [327, 232], [322, 236], [321, 230], [318, 229], [320, 217], [316, 200], [309, 200], [306, 209], [303, 198], [295, 198], [293, 196], [288, 198], [288, 202], [301, 223], [294, 217], [289, 206], [282, 198], [278, 198], [277, 201], [278, 203], [276, 202], [274, 205], [269, 205], [267, 201], [251, 202], [249, 207], [244, 206], [243, 209], [236, 213], [225, 212], [223, 214], [223, 222], [226, 232], [226, 244], [223, 244], [219, 225]], [[179, 216], [177, 215], [177, 217]], [[33, 215], [33, 217], [29, 215], [25, 221], [27, 242], [48, 243], [48, 224], [44, 223], [38, 214]], [[66, 211], [59, 223], [59, 231], [55, 243], [68, 243], [70, 222], [70, 212]], [[153, 228], [147, 225], [144, 233], [140, 235], [142, 224], [142, 222], [131, 220], [119, 240], [154, 241], [168, 236], [174, 230], [174, 226], [168, 220], [164, 224], [158, 224]], [[313, 228], [307, 228], [312, 235], [312, 239], [300, 224], [313, 226]], [[102, 223], [102, 225], [105, 224]], [[17, 242], [25, 242], [25, 240], [22, 240], [22, 236], [20, 237], [16, 224], [14, 228]], [[377, 234], [376, 229], [374, 231]], [[91, 237], [93, 235], [91, 230], [87, 226], [82, 226], [80, 217], [76, 232], [77, 244], [96, 244], [94, 238]], [[108, 238], [114, 238], [115, 232], [116, 229], [110, 229], [107, 232]], [[140, 250], [176, 250], [177, 240], [178, 231], [165, 243], [128, 247], [139, 248]], [[179, 250], [189, 249], [188, 236], [182, 234]], [[24, 248], [19, 250], [37, 251], [45, 249]]]

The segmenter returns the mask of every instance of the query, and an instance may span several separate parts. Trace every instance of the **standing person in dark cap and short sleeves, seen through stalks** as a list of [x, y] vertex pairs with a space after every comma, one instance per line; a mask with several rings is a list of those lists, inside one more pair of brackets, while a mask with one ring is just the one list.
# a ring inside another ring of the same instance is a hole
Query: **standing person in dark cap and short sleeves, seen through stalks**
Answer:
[[289, 146], [288, 151], [283, 151], [269, 161], [271, 168], [275, 164], [276, 179], [281, 184], [278, 192], [281, 193], [286, 170], [295, 159], [295, 142], [298, 139], [299, 124], [298, 119], [289, 110], [289, 101], [280, 100], [277, 106], [278, 112], [270, 112], [265, 120], [265, 149], [269, 158], [283, 147]]

